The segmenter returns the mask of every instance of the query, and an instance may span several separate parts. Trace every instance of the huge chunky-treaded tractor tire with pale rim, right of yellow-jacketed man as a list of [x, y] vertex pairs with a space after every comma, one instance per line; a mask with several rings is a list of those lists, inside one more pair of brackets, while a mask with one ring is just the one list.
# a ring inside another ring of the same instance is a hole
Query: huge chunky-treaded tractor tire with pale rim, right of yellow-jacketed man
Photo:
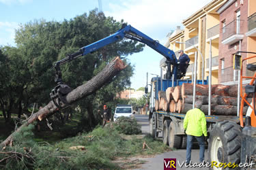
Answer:
[[[209, 162], [240, 163], [242, 133], [236, 122], [218, 122], [210, 133]], [[218, 165], [217, 164], [217, 165]], [[217, 169], [217, 167], [213, 167]]]

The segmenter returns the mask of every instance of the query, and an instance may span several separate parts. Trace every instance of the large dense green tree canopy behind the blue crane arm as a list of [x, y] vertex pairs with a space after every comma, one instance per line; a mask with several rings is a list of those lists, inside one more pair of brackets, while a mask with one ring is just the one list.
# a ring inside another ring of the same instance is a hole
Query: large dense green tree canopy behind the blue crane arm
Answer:
[[[123, 20], [118, 22], [92, 10], [88, 15], [82, 14], [62, 22], [41, 19], [21, 24], [15, 35], [16, 47], [0, 49], [0, 109], [7, 111], [7, 114], [3, 112], [5, 120], [10, 120], [11, 112], [20, 116], [31, 103], [38, 103], [38, 106], [47, 104], [50, 100], [48, 94], [56, 86], [54, 63], [83, 46], [115, 33], [123, 23]], [[61, 65], [63, 82], [76, 88], [93, 78], [115, 56], [121, 56], [126, 62], [126, 69], [109, 84], [92, 97], [78, 102], [81, 112], [87, 114], [90, 126], [98, 124], [94, 118], [98, 107], [106, 102], [114, 105], [116, 93], [130, 86], [134, 68], [126, 56], [141, 52], [143, 47], [137, 41], [122, 39]]]

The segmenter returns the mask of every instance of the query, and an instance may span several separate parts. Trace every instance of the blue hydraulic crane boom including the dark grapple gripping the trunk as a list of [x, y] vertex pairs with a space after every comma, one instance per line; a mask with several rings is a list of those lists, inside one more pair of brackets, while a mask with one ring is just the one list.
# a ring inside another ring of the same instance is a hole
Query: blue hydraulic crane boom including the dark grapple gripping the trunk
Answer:
[[[177, 74], [177, 58], [172, 50], [166, 48], [165, 46], [162, 46], [158, 41], [141, 33], [141, 31], [134, 29], [134, 27], [123, 24], [122, 29], [119, 29], [119, 31], [117, 31], [113, 35], [105, 37], [104, 39], [100, 39], [93, 44], [89, 44], [88, 46], [84, 46], [78, 52], [75, 52], [74, 54], [68, 54], [66, 58], [63, 58], [55, 63], [55, 82], [57, 82], [57, 86], [51, 92], [51, 99], [53, 99], [55, 105], [60, 105], [59, 101], [55, 101], [56, 98], [65, 103], [65, 95], [68, 94], [71, 89], [70, 87], [68, 87], [68, 85], [63, 84], [62, 82], [60, 65], [72, 61], [74, 58], [78, 58], [79, 56], [84, 56], [88, 53], [94, 52], [108, 44], [113, 44], [116, 41], [120, 41], [124, 39], [124, 37], [146, 44], [147, 46], [150, 46], [150, 48], [156, 50], [156, 52], [159, 52], [160, 54], [165, 56], [165, 58], [167, 59], [167, 79], [171, 79], [172, 76], [174, 77], [174, 80], [181, 78], [181, 74]], [[171, 65], [173, 65], [172, 70]]]

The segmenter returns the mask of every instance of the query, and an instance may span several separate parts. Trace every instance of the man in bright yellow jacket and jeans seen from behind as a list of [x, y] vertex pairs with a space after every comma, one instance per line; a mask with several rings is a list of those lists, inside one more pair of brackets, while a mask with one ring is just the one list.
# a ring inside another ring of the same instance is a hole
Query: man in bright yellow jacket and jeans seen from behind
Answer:
[[199, 151], [199, 161], [200, 163], [204, 160], [205, 151], [205, 139], [207, 137], [206, 120], [205, 114], [201, 111], [202, 106], [201, 101], [195, 102], [195, 109], [190, 109], [186, 112], [184, 118], [184, 129], [187, 135], [186, 141], [186, 164], [188, 165], [191, 160], [191, 148], [193, 144], [193, 138], [197, 139], [200, 147]]

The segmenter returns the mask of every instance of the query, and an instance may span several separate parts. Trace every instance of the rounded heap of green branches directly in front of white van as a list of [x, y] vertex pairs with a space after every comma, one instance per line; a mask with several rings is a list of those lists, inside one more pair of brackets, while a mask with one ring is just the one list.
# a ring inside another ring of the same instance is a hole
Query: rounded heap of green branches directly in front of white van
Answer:
[[129, 117], [120, 117], [116, 122], [114, 122], [115, 129], [119, 133], [124, 133], [126, 135], [137, 135], [141, 133], [141, 125], [137, 123], [137, 120]]

